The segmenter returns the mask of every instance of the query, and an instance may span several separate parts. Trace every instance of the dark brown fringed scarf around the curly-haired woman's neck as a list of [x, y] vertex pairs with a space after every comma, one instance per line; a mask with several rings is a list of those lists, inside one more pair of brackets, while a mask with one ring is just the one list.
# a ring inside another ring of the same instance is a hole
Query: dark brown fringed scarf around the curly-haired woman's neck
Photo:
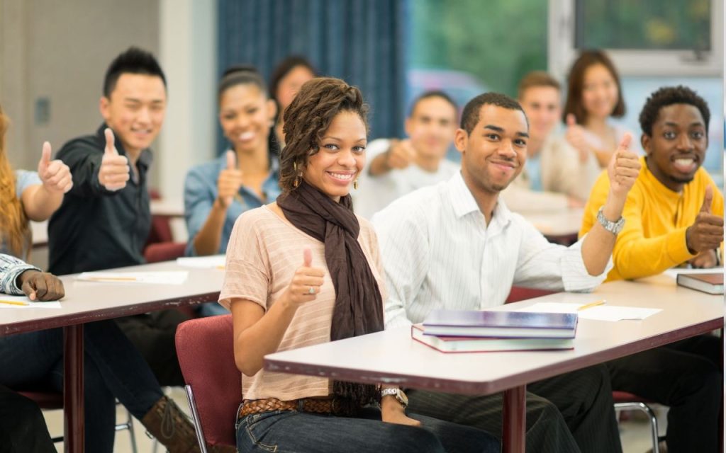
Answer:
[[[360, 225], [351, 208], [351, 196], [336, 203], [302, 180], [300, 186], [277, 198], [287, 220], [325, 244], [325, 262], [335, 287], [335, 308], [330, 340], [383, 330], [383, 299], [358, 242]], [[335, 381], [333, 393], [350, 412], [378, 401], [375, 386]], [[347, 403], [346, 403], [347, 402]]]

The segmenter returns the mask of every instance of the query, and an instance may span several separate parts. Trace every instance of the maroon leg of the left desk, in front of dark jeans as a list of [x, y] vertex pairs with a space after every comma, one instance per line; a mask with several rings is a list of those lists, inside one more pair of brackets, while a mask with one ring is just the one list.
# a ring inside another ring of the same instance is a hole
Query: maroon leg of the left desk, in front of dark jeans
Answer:
[[63, 328], [63, 414], [66, 453], [83, 453], [83, 324]]

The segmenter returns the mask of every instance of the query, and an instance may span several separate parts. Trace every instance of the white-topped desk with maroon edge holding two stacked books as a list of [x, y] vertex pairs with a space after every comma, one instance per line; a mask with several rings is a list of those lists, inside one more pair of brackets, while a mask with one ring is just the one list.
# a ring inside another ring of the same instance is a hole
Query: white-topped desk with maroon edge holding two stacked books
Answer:
[[[391, 383], [404, 388], [459, 394], [504, 391], [504, 452], [524, 452], [527, 383], [579, 370], [656, 346], [723, 328], [723, 296], [676, 286], [666, 275], [637, 282], [605, 283], [595, 294], [559, 293], [508, 304], [588, 303], [658, 307], [663, 311], [641, 321], [580, 320], [571, 351], [442, 354], [413, 341], [409, 328], [265, 356], [265, 369], [328, 376], [362, 383]], [[688, 309], [682, 307], [688, 304]], [[355, 352], [351, 354], [351, 352]]]

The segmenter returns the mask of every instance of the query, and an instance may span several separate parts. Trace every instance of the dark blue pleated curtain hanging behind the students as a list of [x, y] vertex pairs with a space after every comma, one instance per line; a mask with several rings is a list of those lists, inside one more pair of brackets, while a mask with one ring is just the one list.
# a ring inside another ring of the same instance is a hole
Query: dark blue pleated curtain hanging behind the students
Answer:
[[406, 20], [407, 0], [219, 0], [218, 75], [246, 63], [269, 80], [299, 54], [321, 75], [361, 88], [370, 138], [401, 136]]

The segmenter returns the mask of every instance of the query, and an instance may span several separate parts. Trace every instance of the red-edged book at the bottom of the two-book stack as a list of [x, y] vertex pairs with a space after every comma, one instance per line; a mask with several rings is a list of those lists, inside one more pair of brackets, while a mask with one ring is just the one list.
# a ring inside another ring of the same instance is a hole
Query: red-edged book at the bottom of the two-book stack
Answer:
[[505, 352], [573, 349], [573, 338], [492, 338], [426, 335], [423, 325], [411, 326], [411, 338], [439, 352]]

